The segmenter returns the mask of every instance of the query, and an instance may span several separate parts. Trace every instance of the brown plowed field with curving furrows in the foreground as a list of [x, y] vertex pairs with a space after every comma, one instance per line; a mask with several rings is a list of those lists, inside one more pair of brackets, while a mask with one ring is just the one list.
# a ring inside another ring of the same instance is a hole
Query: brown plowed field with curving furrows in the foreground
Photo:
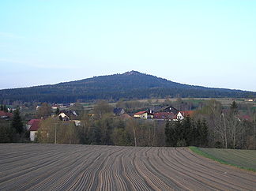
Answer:
[[256, 174], [188, 148], [0, 144], [0, 190], [255, 190]]

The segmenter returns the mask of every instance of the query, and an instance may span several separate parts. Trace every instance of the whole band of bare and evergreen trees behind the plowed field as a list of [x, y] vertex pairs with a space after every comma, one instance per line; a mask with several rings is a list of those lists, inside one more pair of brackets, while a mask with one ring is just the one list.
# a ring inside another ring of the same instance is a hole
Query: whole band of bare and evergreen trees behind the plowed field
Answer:
[[[148, 103], [140, 103], [140, 106], [137, 103], [120, 101], [117, 105], [130, 110], [148, 106]], [[256, 114], [250, 110], [253, 120], [240, 118], [239, 105], [235, 102], [224, 108], [220, 102], [209, 100], [193, 116], [177, 122], [114, 116], [113, 108], [106, 101], [98, 101], [91, 113], [85, 111], [80, 103], [75, 103], [72, 110], [79, 114], [81, 125], [52, 118], [51, 107], [43, 103], [36, 110], [36, 118], [43, 118], [37, 141], [54, 143], [56, 137], [57, 143], [65, 144], [255, 149]], [[28, 137], [23, 126], [20, 111], [15, 110], [12, 121], [0, 122], [1, 142], [17, 141], [17, 137], [22, 140], [26, 134]]]

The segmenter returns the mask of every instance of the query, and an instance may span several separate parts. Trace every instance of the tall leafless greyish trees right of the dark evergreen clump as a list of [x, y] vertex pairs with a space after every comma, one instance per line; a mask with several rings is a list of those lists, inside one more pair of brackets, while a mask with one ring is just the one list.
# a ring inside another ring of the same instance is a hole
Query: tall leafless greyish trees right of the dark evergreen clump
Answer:
[[233, 101], [224, 108], [213, 99], [196, 112], [195, 118], [205, 118], [209, 125], [210, 148], [255, 149], [256, 112], [247, 110], [250, 118], [244, 119], [238, 107]]

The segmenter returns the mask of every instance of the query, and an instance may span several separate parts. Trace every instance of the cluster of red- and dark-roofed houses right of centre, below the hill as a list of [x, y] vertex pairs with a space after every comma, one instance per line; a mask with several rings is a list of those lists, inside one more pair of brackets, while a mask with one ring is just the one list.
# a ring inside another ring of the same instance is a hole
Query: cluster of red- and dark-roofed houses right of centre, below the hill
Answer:
[[183, 120], [186, 116], [192, 116], [193, 110], [177, 110], [175, 107], [161, 107], [156, 110], [143, 110], [134, 114], [134, 118], [155, 119], [165, 121]]

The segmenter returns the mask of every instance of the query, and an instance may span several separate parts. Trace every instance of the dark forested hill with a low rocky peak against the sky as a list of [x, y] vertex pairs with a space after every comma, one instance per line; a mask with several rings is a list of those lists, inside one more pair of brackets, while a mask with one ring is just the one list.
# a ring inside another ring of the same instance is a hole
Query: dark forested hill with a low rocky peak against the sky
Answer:
[[0, 103], [22, 102], [70, 103], [93, 99], [147, 99], [181, 97], [255, 97], [256, 92], [224, 88], [205, 88], [179, 84], [160, 77], [131, 71], [122, 74], [87, 78], [53, 85], [0, 90]]

